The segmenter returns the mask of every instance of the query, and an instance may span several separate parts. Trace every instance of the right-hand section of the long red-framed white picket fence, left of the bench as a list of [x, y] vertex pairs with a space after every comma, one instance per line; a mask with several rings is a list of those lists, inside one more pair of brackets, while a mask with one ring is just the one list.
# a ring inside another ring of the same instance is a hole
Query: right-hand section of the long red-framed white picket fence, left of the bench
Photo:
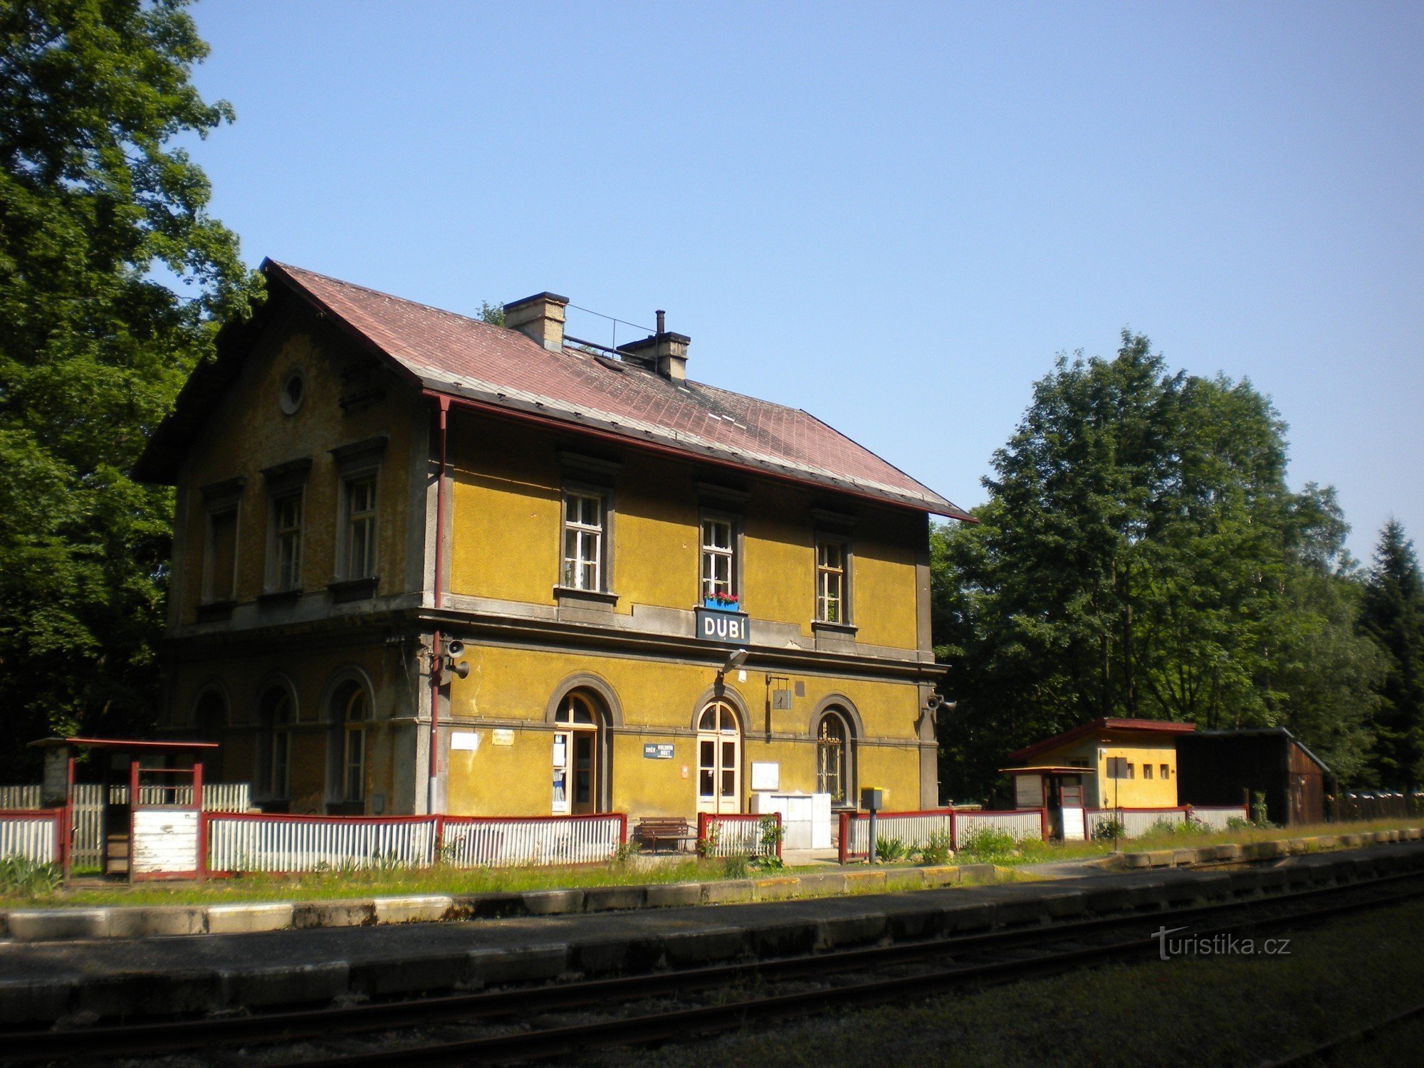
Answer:
[[609, 860], [624, 840], [621, 816], [460, 819], [447, 816], [440, 862], [457, 867], [590, 864]]

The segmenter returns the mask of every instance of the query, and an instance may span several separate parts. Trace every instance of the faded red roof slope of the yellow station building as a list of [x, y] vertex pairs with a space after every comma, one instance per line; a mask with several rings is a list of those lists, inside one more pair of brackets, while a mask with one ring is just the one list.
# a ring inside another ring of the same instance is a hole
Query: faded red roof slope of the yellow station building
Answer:
[[403, 300], [266, 261], [285, 283], [403, 367], [424, 389], [468, 397], [691, 456], [970, 518], [904, 471], [815, 416], [699, 382], [671, 382], [637, 365]]

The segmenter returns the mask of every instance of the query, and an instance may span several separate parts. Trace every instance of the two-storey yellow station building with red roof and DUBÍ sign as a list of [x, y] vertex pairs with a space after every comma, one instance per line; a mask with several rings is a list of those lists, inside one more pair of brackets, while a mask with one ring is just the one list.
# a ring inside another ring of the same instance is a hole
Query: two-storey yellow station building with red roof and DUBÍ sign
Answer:
[[[931, 807], [938, 494], [688, 337], [268, 261], [135, 477], [177, 487], [165, 726], [271, 810]], [[745, 651], [745, 661], [738, 651]], [[732, 662], [729, 662], [729, 658]]]

